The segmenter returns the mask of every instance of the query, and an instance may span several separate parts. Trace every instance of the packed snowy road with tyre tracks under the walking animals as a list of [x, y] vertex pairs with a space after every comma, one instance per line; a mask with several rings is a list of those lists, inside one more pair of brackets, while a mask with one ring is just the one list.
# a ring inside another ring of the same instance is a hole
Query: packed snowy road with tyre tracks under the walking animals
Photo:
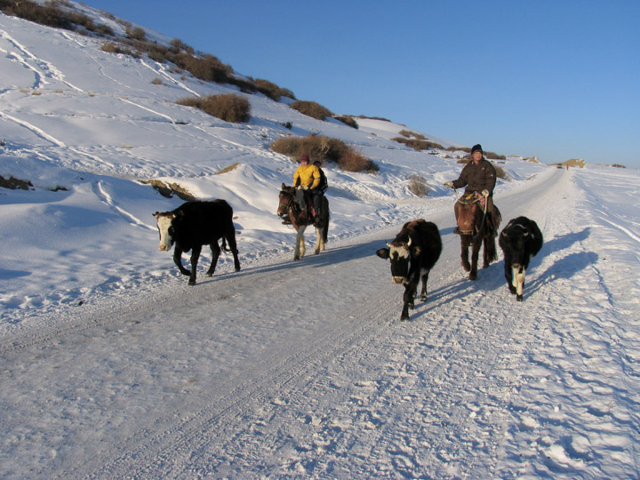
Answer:
[[638, 321], [580, 188], [549, 170], [496, 199], [545, 236], [523, 303], [501, 260], [466, 279], [448, 205], [408, 323], [373, 254], [395, 226], [6, 336], [3, 476], [638, 476]]

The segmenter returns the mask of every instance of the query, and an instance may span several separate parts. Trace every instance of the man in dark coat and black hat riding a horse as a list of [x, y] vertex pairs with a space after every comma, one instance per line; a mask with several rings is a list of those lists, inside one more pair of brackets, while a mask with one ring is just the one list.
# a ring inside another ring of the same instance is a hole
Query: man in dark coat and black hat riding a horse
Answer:
[[[465, 195], [477, 193], [486, 198], [487, 225], [492, 226], [493, 234], [497, 228], [493, 219], [493, 188], [496, 183], [496, 171], [491, 162], [484, 158], [484, 152], [480, 144], [471, 148], [471, 156], [473, 160], [465, 165], [460, 172], [458, 180], [447, 181], [444, 185], [451, 188], [465, 188]], [[456, 222], [458, 221], [458, 212], [460, 209], [459, 202], [456, 202], [453, 211], [455, 212]], [[454, 233], [459, 233], [456, 227]]]

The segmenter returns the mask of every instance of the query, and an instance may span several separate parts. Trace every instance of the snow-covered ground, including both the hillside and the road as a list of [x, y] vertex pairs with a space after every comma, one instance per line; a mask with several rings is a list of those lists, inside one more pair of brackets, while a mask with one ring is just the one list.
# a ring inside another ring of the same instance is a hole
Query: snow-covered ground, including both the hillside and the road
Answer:
[[[460, 164], [388, 140], [403, 125], [256, 95], [228, 124], [172, 103], [227, 87], [4, 15], [0, 52], [0, 175], [34, 185], [0, 188], [1, 476], [640, 476], [640, 172], [500, 164], [505, 222], [545, 236], [516, 303], [502, 260], [466, 278], [442, 187]], [[275, 215], [295, 164], [268, 149], [286, 122], [380, 165], [325, 168], [328, 250], [298, 262]], [[243, 269], [205, 278], [204, 255], [188, 287], [151, 216], [181, 201], [149, 179], [226, 198]], [[419, 217], [444, 252], [399, 323], [374, 252]]]

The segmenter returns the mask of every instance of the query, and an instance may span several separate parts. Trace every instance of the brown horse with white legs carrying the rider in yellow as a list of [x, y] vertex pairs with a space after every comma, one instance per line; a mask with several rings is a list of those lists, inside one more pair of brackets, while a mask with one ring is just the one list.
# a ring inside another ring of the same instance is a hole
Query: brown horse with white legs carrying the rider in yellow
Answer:
[[[282, 188], [280, 189], [279, 196], [278, 216], [283, 220], [289, 220], [298, 232], [296, 236], [296, 246], [295, 251], [293, 252], [293, 260], [300, 260], [304, 257], [306, 252], [305, 244], [304, 244], [304, 232], [307, 229], [308, 225], [314, 224], [313, 216], [310, 212], [302, 212], [300, 209], [300, 205], [296, 200], [295, 196], [295, 188], [287, 187], [282, 184]], [[307, 204], [310, 204], [310, 200]], [[320, 215], [320, 226], [316, 226], [317, 232], [317, 244], [316, 244], [316, 255], [321, 251], [324, 251], [324, 243], [327, 240], [327, 234], [329, 233], [329, 200], [327, 200], [326, 196], [323, 196], [323, 206], [322, 212]]]

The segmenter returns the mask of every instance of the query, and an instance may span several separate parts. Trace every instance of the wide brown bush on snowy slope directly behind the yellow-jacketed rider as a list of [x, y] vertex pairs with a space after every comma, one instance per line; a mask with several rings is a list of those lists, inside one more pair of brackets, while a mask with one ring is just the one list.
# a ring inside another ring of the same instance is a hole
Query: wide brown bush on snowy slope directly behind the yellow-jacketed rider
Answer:
[[377, 172], [378, 165], [365, 158], [362, 153], [349, 147], [338, 139], [330, 139], [324, 135], [308, 135], [307, 137], [283, 137], [271, 144], [277, 153], [291, 156], [298, 161], [306, 154], [312, 162], [326, 160], [340, 165], [347, 172]]

